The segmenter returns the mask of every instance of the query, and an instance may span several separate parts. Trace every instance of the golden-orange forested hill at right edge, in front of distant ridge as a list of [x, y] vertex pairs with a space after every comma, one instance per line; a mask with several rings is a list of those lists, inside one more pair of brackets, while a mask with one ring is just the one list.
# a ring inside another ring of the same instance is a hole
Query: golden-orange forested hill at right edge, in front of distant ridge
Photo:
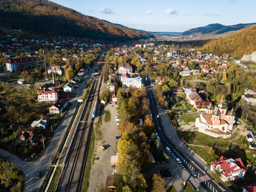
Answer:
[[235, 58], [242, 58], [244, 54], [251, 54], [256, 50], [256, 26], [242, 29], [232, 35], [218, 40], [211, 40], [204, 45], [203, 52], [223, 54], [228, 52]]

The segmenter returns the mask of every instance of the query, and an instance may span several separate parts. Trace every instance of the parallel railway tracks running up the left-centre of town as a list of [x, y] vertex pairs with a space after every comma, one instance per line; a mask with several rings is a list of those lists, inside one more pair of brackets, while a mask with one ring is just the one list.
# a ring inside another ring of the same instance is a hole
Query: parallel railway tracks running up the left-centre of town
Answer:
[[[101, 79], [95, 77], [92, 81], [92, 90], [88, 95], [86, 106], [77, 125], [74, 139], [67, 154], [65, 166], [61, 173], [56, 191], [81, 191], [83, 186], [83, 175], [86, 168], [86, 159], [90, 148], [90, 138], [93, 130], [93, 120], [90, 114], [95, 98], [99, 96]], [[99, 82], [100, 81], [100, 82]]]

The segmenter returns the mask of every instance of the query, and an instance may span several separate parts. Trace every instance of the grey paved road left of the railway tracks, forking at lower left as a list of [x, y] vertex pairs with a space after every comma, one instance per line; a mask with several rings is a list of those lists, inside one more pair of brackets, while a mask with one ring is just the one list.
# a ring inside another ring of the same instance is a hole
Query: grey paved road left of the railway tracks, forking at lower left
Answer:
[[[101, 56], [102, 54], [100, 55], [100, 58]], [[0, 156], [5, 157], [6, 159], [8, 159], [8, 161], [11, 161], [14, 164], [16, 164], [16, 166], [18, 166], [20, 170], [22, 170], [22, 172], [24, 173], [25, 175], [24, 191], [26, 192], [38, 191], [38, 189], [40, 189], [40, 186], [42, 186], [47, 170], [49, 166], [51, 166], [52, 158], [54, 157], [54, 154], [56, 154], [56, 150], [58, 150], [58, 148], [61, 145], [61, 138], [64, 136], [65, 129], [68, 127], [68, 124], [76, 109], [77, 99], [81, 98], [81, 95], [83, 93], [84, 88], [86, 87], [88, 79], [91, 78], [91, 74], [97, 68], [98, 68], [98, 65], [93, 66], [91, 71], [88, 74], [86, 74], [87, 76], [86, 80], [83, 83], [81, 83], [80, 88], [77, 88], [75, 90], [76, 97], [68, 99], [68, 101], [71, 102], [71, 106], [68, 109], [65, 116], [63, 117], [63, 119], [61, 120], [58, 128], [54, 130], [54, 136], [51, 140], [51, 143], [49, 143], [49, 146], [46, 148], [44, 155], [38, 161], [35, 161], [35, 162], [22, 161], [22, 159], [19, 159], [19, 157], [0, 149]], [[38, 172], [41, 173], [40, 179], [36, 179], [36, 174]]]

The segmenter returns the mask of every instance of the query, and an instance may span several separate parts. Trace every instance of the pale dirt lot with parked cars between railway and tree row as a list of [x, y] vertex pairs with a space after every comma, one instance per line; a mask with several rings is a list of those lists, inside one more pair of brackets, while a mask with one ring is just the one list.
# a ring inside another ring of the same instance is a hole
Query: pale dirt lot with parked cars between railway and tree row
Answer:
[[[105, 110], [109, 110], [111, 113], [110, 122], [104, 122], [104, 115], [102, 115], [102, 125], [96, 130], [97, 136], [95, 136], [95, 148], [93, 152], [92, 169], [90, 172], [89, 188], [88, 191], [95, 191], [95, 187], [101, 182], [105, 183], [106, 178], [112, 175], [110, 159], [117, 152], [116, 136], [120, 136], [118, 125], [116, 125], [115, 115], [117, 105], [108, 104]], [[102, 111], [104, 113], [104, 111]], [[100, 150], [100, 146], [103, 145], [106, 150]], [[99, 157], [99, 159], [97, 158]]]

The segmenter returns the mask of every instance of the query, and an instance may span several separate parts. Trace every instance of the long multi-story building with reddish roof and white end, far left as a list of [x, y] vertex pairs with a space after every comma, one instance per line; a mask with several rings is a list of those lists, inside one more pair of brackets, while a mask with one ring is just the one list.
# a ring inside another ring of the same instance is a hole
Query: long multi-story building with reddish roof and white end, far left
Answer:
[[18, 59], [13, 59], [9, 60], [6, 63], [6, 68], [8, 71], [13, 72], [15, 70], [20, 71], [20, 70], [28, 70], [30, 68], [35, 68], [37, 67], [38, 60], [34, 57], [30, 58], [18, 58]]

